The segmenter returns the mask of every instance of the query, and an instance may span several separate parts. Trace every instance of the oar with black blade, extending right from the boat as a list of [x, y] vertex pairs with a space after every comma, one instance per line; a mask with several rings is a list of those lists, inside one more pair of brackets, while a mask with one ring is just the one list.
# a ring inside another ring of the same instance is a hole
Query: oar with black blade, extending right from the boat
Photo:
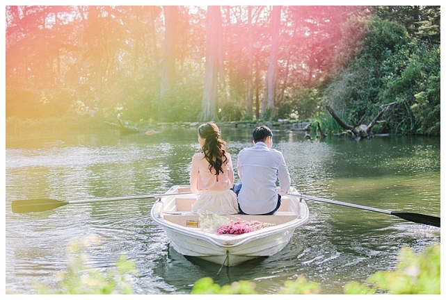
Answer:
[[346, 203], [346, 202], [336, 201], [336, 200], [332, 200], [332, 199], [325, 199], [325, 198], [308, 196], [308, 195], [305, 195], [305, 194], [298, 194], [298, 193], [289, 193], [289, 194], [297, 196], [297, 197], [303, 197], [305, 199], [314, 200], [314, 201], [332, 203], [332, 204], [337, 204], [337, 205], [341, 205], [341, 206], [349, 206], [351, 208], [359, 208], [359, 209], [362, 209], [362, 210], [370, 210], [370, 211], [374, 211], [376, 213], [385, 213], [385, 214], [388, 214], [388, 215], [394, 215], [396, 217], [400, 217], [401, 219], [405, 219], [407, 221], [440, 227], [440, 217], [434, 217], [434, 216], [431, 216], [431, 215], [423, 215], [423, 214], [420, 214], [420, 213], [399, 213], [399, 212], [394, 212], [394, 211], [391, 211], [391, 210], [383, 210], [383, 209], [380, 209], [380, 208], [372, 208], [372, 207], [369, 207], [369, 206], [361, 206], [361, 205], [358, 205], [358, 204]]

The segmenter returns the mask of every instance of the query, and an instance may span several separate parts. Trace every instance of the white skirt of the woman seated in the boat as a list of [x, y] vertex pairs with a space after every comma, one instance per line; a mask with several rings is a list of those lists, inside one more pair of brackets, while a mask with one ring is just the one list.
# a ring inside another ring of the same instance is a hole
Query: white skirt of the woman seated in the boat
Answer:
[[237, 195], [232, 190], [202, 190], [192, 204], [191, 211], [192, 213], [200, 211], [205, 215], [235, 215], [239, 213]]

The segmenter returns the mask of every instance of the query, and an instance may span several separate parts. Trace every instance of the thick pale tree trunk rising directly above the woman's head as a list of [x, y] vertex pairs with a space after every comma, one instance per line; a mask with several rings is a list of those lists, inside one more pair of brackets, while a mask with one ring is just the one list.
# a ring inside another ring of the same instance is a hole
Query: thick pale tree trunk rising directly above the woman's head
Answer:
[[202, 121], [217, 119], [218, 53], [221, 47], [220, 6], [208, 6], [206, 17], [206, 66], [201, 113]]

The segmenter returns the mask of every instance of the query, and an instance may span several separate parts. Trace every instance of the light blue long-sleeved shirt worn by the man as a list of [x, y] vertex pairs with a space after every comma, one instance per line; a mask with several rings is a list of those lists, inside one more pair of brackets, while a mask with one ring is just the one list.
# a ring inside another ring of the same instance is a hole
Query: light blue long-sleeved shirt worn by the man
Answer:
[[239, 206], [249, 215], [269, 213], [276, 208], [277, 180], [280, 194], [286, 194], [291, 185], [282, 152], [269, 149], [264, 142], [240, 151], [237, 171], [241, 181]]

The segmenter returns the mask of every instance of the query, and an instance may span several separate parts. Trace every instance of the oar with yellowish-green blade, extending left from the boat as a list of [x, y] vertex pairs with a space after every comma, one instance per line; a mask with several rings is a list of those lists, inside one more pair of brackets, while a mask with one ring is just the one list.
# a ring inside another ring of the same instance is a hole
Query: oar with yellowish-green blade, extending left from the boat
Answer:
[[41, 212], [45, 210], [51, 210], [54, 208], [58, 208], [60, 206], [65, 206], [67, 204], [157, 198], [157, 197], [178, 196], [183, 194], [192, 194], [192, 192], [180, 192], [172, 194], [143, 194], [143, 195], [134, 195], [125, 197], [96, 198], [96, 199], [83, 199], [83, 200], [70, 200], [70, 201], [61, 201], [56, 199], [29, 199], [29, 200], [13, 201], [11, 203], [11, 206], [13, 208], [13, 213], [31, 213], [31, 212]]

